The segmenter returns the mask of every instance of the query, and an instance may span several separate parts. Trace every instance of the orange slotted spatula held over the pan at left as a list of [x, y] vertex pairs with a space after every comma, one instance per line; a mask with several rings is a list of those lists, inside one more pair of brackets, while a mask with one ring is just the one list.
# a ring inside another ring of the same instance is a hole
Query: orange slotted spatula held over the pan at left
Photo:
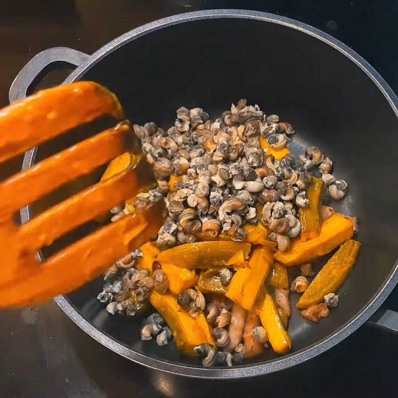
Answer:
[[[123, 117], [116, 97], [93, 82], [44, 90], [0, 110], [0, 162], [101, 115]], [[49, 257], [38, 249], [137, 194], [132, 168], [49, 208], [23, 225], [13, 214], [123, 153], [123, 121], [0, 183], [0, 307], [45, 301], [100, 275], [160, 227], [159, 209], [127, 215]]]

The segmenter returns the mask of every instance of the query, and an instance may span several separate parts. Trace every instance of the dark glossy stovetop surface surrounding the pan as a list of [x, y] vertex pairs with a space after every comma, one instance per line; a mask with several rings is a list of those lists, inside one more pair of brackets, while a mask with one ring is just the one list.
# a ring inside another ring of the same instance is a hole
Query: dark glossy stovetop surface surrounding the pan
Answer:
[[[25, 4], [28, 3], [28, 4]], [[290, 4], [292, 3], [292, 4]], [[68, 46], [88, 54], [139, 25], [206, 8], [249, 8], [315, 26], [352, 47], [398, 93], [394, 1], [0, 1], [0, 105], [35, 54]], [[60, 81], [61, 75], [53, 76]], [[381, 121], [382, 124], [382, 121]], [[20, 166], [20, 159], [14, 165]], [[2, 265], [5, 266], [5, 265]], [[398, 290], [386, 301], [398, 310]], [[299, 367], [231, 382], [190, 380], [119, 357], [82, 332], [54, 302], [0, 312], [0, 397], [372, 396], [398, 391], [398, 336], [363, 326]], [[394, 394], [395, 392], [395, 394]]]

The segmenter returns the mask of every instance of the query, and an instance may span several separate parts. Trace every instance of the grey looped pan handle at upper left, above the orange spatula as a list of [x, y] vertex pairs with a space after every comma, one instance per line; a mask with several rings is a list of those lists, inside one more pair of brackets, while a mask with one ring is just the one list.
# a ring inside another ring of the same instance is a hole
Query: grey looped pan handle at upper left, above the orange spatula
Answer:
[[9, 89], [9, 102], [25, 98], [52, 70], [59, 67], [77, 67], [90, 56], [68, 47], [53, 47], [34, 56], [18, 73]]

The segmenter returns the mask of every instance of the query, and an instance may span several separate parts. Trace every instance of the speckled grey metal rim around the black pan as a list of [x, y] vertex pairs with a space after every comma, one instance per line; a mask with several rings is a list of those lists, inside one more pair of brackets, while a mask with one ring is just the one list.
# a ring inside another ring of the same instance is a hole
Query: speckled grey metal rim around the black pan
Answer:
[[[259, 12], [250, 10], [239, 10], [239, 9], [214, 9], [214, 10], [203, 10], [194, 11], [183, 14], [173, 15], [167, 18], [159, 19], [136, 29], [133, 29], [118, 38], [110, 41], [93, 55], [91, 55], [87, 61], [80, 65], [64, 83], [71, 83], [78, 80], [88, 69], [96, 65], [106, 55], [118, 49], [119, 47], [127, 44], [128, 42], [135, 40], [136, 38], [145, 34], [151, 33], [155, 30], [173, 26], [183, 22], [190, 22], [195, 20], [201, 20], [206, 18], [242, 18], [242, 19], [254, 19], [264, 22], [275, 23], [283, 25], [303, 33], [306, 33], [324, 43], [330, 45], [335, 50], [339, 51], [352, 62], [354, 62], [366, 75], [373, 81], [378, 89], [383, 93], [386, 100], [389, 102], [394, 113], [398, 118], [398, 99], [386, 81], [380, 76], [380, 74], [361, 56], [359, 56], [352, 49], [341, 43], [339, 40], [328, 35], [327, 33], [318, 30], [310, 25], [298, 22], [294, 19], [286, 18], [283, 16]], [[35, 160], [37, 148], [26, 152], [22, 169], [29, 168]], [[25, 223], [30, 219], [29, 207], [25, 207], [21, 210], [21, 221]], [[39, 253], [39, 257], [42, 260], [42, 256]], [[298, 350], [292, 354], [286, 356], [265, 361], [257, 365], [241, 365], [233, 368], [203, 368], [199, 366], [188, 366], [174, 363], [172, 361], [164, 361], [146, 356], [145, 354], [138, 353], [123, 343], [111, 338], [104, 332], [100, 331], [97, 327], [93, 326], [70, 302], [67, 297], [58, 296], [55, 301], [62, 308], [62, 310], [87, 334], [96, 339], [105, 347], [111, 349], [117, 354], [137, 362], [146, 367], [161, 370], [164, 372], [188, 376], [193, 378], [216, 378], [216, 379], [238, 379], [252, 376], [259, 376], [276, 372], [278, 370], [286, 369], [291, 366], [295, 366], [301, 362], [307, 361], [313, 358], [327, 349], [331, 348], [335, 344], [342, 341], [344, 338], [354, 332], [359, 326], [361, 326], [383, 303], [385, 298], [391, 293], [395, 285], [398, 282], [398, 261], [392, 267], [392, 271], [386, 278], [382, 286], [375, 293], [375, 295], [344, 325], [336, 329], [333, 333], [324, 337], [321, 340]]]

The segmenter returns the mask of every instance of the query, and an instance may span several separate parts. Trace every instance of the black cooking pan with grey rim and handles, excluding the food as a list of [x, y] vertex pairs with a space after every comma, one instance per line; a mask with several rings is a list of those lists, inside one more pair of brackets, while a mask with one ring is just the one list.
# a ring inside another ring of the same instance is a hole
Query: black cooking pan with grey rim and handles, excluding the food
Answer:
[[[43, 51], [15, 79], [10, 101], [26, 96], [50, 70], [64, 66], [76, 67], [65, 83], [94, 80], [103, 84], [119, 97], [128, 118], [139, 124], [153, 120], [164, 127], [171, 125], [175, 110], [182, 105], [204, 107], [214, 118], [240, 98], [258, 103], [267, 114], [277, 113], [297, 132], [296, 153], [308, 144], [319, 146], [334, 161], [335, 176], [348, 181], [349, 192], [337, 210], [359, 217], [358, 239], [363, 244], [338, 292], [339, 306], [330, 316], [313, 324], [293, 311], [289, 325], [293, 347], [284, 356], [267, 350], [241, 366], [203, 368], [198, 358], [181, 354], [173, 341], [165, 347], [142, 342], [139, 318], [111, 316], [96, 300], [101, 278], [55, 298], [86, 333], [145, 366], [222, 379], [298, 365], [347, 337], [372, 314], [374, 323], [398, 330], [396, 313], [376, 312], [398, 280], [398, 99], [358, 54], [292, 19], [254, 11], [199, 11], [134, 29], [91, 56], [63, 47]], [[89, 130], [30, 150], [23, 168], [85, 134]], [[22, 209], [22, 222], [97, 182], [100, 172]], [[45, 258], [49, 250], [92, 228], [92, 224], [85, 225], [38, 256]], [[292, 278], [294, 270], [290, 272]], [[292, 301], [294, 306], [295, 298]]]

